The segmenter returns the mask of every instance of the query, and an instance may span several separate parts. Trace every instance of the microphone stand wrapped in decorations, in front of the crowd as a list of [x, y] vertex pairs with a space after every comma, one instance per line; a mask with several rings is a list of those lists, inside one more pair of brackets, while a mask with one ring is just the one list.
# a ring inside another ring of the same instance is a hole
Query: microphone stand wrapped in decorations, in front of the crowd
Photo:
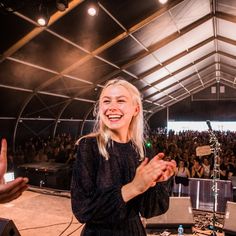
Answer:
[[210, 143], [211, 148], [214, 154], [214, 166], [213, 166], [213, 184], [212, 184], [212, 191], [213, 191], [213, 217], [212, 217], [212, 233], [211, 236], [216, 236], [216, 207], [217, 207], [217, 195], [218, 195], [218, 188], [217, 188], [217, 180], [220, 179], [220, 143], [216, 135], [214, 134], [211, 123], [209, 120], [206, 121], [208, 125], [208, 132], [210, 135]]

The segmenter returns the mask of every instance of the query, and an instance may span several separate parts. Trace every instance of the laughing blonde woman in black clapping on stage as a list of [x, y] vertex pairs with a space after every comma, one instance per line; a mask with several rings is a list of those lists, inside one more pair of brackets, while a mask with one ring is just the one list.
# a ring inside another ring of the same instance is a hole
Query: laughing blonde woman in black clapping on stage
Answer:
[[140, 215], [168, 209], [174, 161], [145, 157], [140, 93], [122, 79], [108, 81], [97, 107], [95, 131], [78, 142], [71, 201], [85, 223], [82, 236], [144, 236]]

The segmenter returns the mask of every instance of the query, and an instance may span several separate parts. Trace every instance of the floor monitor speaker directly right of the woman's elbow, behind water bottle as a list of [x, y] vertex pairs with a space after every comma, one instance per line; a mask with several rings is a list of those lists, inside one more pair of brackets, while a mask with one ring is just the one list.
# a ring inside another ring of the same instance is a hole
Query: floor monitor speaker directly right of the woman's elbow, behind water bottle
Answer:
[[147, 219], [147, 229], [172, 229], [177, 231], [179, 225], [183, 225], [184, 231], [192, 232], [194, 225], [192, 204], [190, 197], [170, 197], [170, 205], [167, 212], [160, 216]]

